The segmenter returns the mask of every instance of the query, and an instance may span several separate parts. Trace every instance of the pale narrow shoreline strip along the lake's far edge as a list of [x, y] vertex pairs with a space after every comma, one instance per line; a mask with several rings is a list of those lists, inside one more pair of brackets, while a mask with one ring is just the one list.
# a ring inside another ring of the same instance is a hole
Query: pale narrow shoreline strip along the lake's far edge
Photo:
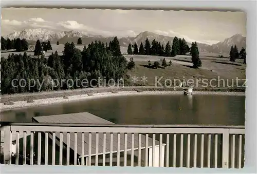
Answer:
[[[47, 99], [37, 99], [33, 100], [32, 103], [28, 103], [27, 101], [16, 101], [11, 105], [5, 105], [4, 103], [0, 103], [1, 111], [6, 111], [10, 109], [21, 109], [32, 106], [41, 106], [41, 105], [49, 105], [49, 104], [61, 104], [68, 102], [76, 102], [80, 100], [93, 100], [114, 96], [128, 96], [128, 95], [167, 95], [167, 94], [180, 94], [183, 95], [183, 91], [116, 91], [116, 92], [99, 92], [99, 93], [90, 93], [89, 94], [80, 94], [80, 95], [70, 95], [66, 98], [57, 97], [57, 98], [47, 98]], [[225, 91], [194, 91], [193, 95], [236, 95], [236, 96], [245, 96], [245, 92], [225, 92]], [[192, 96], [192, 95], [189, 95]]]

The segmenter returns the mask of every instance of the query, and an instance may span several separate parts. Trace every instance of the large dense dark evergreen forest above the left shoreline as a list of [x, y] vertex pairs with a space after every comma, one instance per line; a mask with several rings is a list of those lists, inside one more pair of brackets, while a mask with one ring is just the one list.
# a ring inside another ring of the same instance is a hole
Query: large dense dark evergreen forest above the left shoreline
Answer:
[[[117, 82], [124, 77], [127, 70], [127, 61], [121, 54], [117, 37], [109, 45], [100, 41], [92, 42], [87, 47], [84, 46], [82, 51], [77, 49], [74, 43], [66, 43], [63, 55], [56, 51], [48, 59], [44, 55], [39, 59], [27, 55], [26, 52], [23, 55], [11, 54], [7, 59], [2, 59], [1, 64], [2, 94], [82, 88], [85, 87], [85, 84], [81, 84], [83, 79], [87, 79], [88, 82], [98, 78], [106, 79], [106, 82], [113, 79]], [[24, 79], [27, 84], [34, 79], [35, 83], [30, 85], [33, 87], [23, 87], [23, 81], [20, 85], [12, 85], [13, 79]], [[69, 84], [69, 79], [78, 84], [70, 87], [72, 84]], [[61, 83], [62, 80], [66, 81]], [[90, 87], [97, 83], [94, 80], [87, 85]]]

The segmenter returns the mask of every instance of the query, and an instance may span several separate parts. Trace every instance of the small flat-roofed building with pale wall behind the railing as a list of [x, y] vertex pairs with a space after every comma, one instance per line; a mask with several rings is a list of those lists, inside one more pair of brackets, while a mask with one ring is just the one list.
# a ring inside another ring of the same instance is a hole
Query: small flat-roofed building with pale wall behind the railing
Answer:
[[[107, 121], [100, 117], [97, 117], [94, 114], [89, 112], [80, 112], [80, 113], [70, 113], [70, 114], [60, 114], [60, 115], [49, 115], [49, 116], [42, 116], [42, 117], [33, 117], [33, 122], [38, 123], [48, 123], [55, 124], [55, 123], [70, 123], [70, 124], [115, 124], [113, 122]], [[47, 130], [46, 130], [47, 131]], [[42, 141], [44, 141], [44, 133], [42, 133]], [[124, 165], [124, 133], [120, 133], [120, 166]], [[36, 138], [36, 137], [35, 137]], [[49, 133], [49, 138], [52, 138], [52, 134]], [[134, 166], [138, 163], [138, 147], [139, 147], [139, 134], [134, 134], [134, 144], [132, 144], [132, 135], [131, 133], [127, 133], [127, 166], [130, 166], [131, 162], [131, 152], [132, 152], [132, 145], [134, 145]], [[148, 148], [145, 149], [145, 135], [141, 134], [141, 166], [144, 165], [145, 161], [145, 153], [148, 153], [148, 166], [152, 166], [152, 149], [153, 149], [153, 139], [151, 136], [148, 138]], [[21, 142], [21, 141], [20, 141]], [[84, 133], [84, 156], [82, 157], [82, 133], [77, 133], [77, 164], [81, 164], [81, 158], [84, 158], [84, 165], [88, 165], [88, 157], [89, 157], [89, 133]], [[118, 134], [113, 133], [113, 166], [117, 165], [117, 152], [118, 152]], [[155, 164], [154, 166], [159, 166], [159, 159], [161, 159], [161, 166], [164, 166], [164, 150], [165, 150], [165, 143], [162, 144], [162, 153], [161, 158], [159, 158], [159, 141], [155, 141]], [[42, 142], [44, 145], [44, 142]], [[60, 133], [56, 132], [56, 164], [59, 164], [59, 145], [60, 145]], [[49, 147], [51, 145], [49, 144]], [[51, 151], [48, 147], [48, 150]], [[105, 146], [105, 165], [109, 165], [110, 162], [110, 152], [111, 152], [111, 134], [106, 133], [106, 146]], [[50, 147], [51, 148], [51, 147]], [[63, 165], [66, 165], [66, 149], [67, 148], [67, 133], [63, 132]], [[70, 132], [70, 164], [74, 164], [74, 152], [75, 152], [75, 133]], [[44, 157], [44, 152], [41, 150], [41, 156]], [[49, 155], [50, 156], [50, 155]], [[51, 157], [48, 156], [48, 164], [51, 164]], [[95, 165], [95, 158], [96, 157], [96, 133], [91, 133], [91, 165]], [[42, 160], [41, 160], [42, 161]], [[98, 148], [98, 165], [101, 166], [103, 163], [103, 133], [99, 133], [99, 148]]]

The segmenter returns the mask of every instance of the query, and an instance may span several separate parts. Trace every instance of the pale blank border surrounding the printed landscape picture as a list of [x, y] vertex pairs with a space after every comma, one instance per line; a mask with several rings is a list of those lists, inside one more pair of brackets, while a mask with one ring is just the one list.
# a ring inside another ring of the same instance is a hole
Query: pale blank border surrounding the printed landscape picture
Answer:
[[243, 169], [153, 168], [153, 167], [81, 167], [81, 166], [13, 166], [0, 165], [1, 173], [256, 173], [256, 2], [255, 1], [12, 1], [2, 0], [1, 7], [90, 8], [244, 11], [247, 13], [246, 52], [248, 79], [246, 89], [245, 167]]

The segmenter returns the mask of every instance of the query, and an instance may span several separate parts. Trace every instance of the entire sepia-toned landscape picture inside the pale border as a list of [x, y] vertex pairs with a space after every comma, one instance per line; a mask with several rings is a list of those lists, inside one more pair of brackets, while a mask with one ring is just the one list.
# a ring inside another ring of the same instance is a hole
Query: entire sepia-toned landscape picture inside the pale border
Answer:
[[1, 18], [2, 164], [244, 167], [246, 13]]

